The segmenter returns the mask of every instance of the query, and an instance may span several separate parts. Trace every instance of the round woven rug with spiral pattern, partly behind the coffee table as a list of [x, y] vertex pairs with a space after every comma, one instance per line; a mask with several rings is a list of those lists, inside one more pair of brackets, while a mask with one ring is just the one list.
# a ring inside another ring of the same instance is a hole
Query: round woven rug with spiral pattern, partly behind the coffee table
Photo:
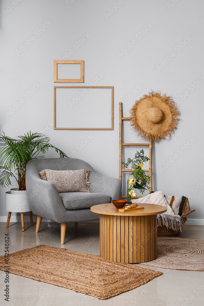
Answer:
[[185, 237], [158, 237], [158, 257], [141, 263], [146, 266], [204, 271], [204, 240]]

